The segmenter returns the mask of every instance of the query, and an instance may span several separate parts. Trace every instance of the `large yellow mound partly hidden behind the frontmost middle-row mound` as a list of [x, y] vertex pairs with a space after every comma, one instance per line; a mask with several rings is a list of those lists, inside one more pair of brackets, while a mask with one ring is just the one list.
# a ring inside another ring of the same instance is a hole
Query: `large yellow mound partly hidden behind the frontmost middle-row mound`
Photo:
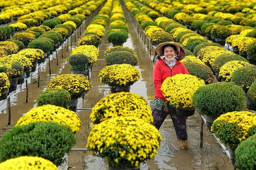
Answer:
[[153, 122], [150, 107], [144, 97], [130, 92], [112, 93], [98, 101], [92, 107], [90, 119], [92, 123], [98, 124], [118, 116], [132, 116], [148, 123]]

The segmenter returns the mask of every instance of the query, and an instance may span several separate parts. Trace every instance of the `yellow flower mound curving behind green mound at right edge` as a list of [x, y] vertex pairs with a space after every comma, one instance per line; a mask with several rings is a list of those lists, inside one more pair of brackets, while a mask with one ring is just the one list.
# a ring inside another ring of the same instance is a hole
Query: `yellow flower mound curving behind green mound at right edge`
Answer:
[[250, 65], [250, 63], [244, 61], [229, 61], [220, 67], [219, 78], [223, 78], [226, 82], [229, 82], [237, 69]]

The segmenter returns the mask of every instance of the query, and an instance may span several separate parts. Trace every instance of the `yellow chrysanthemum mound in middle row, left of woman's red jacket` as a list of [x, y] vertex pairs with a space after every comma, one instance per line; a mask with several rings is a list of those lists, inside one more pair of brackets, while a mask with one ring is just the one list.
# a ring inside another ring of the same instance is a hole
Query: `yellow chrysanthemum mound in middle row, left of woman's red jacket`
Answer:
[[130, 64], [113, 64], [100, 70], [98, 77], [107, 85], [127, 86], [139, 80], [140, 72]]

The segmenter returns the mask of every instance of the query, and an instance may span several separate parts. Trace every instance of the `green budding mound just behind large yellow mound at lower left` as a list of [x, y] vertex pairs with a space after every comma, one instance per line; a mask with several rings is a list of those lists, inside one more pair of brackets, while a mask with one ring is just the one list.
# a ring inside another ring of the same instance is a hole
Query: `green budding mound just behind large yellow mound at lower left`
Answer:
[[42, 92], [38, 98], [37, 106], [43, 105], [55, 105], [68, 109], [68, 104], [70, 103], [71, 97], [67, 90], [49, 88]]

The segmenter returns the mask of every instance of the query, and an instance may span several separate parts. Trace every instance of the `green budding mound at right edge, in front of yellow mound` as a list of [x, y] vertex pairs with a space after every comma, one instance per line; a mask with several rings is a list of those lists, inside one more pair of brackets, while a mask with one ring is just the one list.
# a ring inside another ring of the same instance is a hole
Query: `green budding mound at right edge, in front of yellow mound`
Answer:
[[231, 82], [239, 85], [247, 93], [252, 83], [256, 80], [256, 66], [246, 66], [237, 69], [232, 77]]

